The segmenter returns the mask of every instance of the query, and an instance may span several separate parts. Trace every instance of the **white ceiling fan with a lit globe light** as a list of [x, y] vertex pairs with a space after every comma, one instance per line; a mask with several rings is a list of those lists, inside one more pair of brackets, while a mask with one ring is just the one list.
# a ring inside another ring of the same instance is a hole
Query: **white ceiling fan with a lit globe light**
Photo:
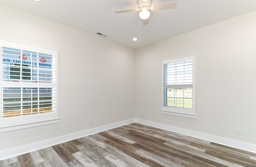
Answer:
[[177, 6], [177, 2], [170, 2], [166, 4], [156, 4], [151, 6], [151, 0], [138, 0], [138, 8], [126, 9], [126, 10], [116, 10], [116, 14], [126, 13], [126, 12], [137, 12], [140, 11], [140, 18], [143, 20], [143, 25], [149, 24], [150, 12], [148, 10], [164, 10], [164, 9], [174, 9]]

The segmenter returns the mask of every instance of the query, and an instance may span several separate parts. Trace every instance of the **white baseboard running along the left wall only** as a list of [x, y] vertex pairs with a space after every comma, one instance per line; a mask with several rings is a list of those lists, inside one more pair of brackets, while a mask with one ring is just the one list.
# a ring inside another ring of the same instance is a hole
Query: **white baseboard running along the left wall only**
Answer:
[[38, 149], [43, 149], [46, 147], [50, 147], [52, 145], [56, 145], [59, 143], [63, 143], [66, 141], [70, 141], [73, 139], [78, 139], [78, 138], [82, 138], [84, 136], [89, 136], [91, 134], [96, 134], [105, 130], [110, 130], [113, 128], [117, 128], [119, 126], [124, 126], [127, 124], [131, 124], [135, 122], [135, 119], [130, 119], [130, 120], [125, 120], [125, 121], [121, 121], [121, 122], [116, 122], [114, 124], [108, 124], [105, 126], [100, 126], [98, 128], [93, 128], [93, 129], [89, 129], [89, 130], [84, 130], [81, 132], [77, 132], [74, 134], [68, 134], [65, 136], [60, 136], [58, 138], [53, 138], [53, 139], [48, 139], [45, 141], [39, 141], [37, 143], [32, 143], [29, 145], [24, 145], [21, 147], [16, 147], [16, 148], [12, 148], [12, 149], [8, 149], [8, 150], [4, 150], [4, 151], [0, 151], [0, 161], [10, 158], [10, 157], [14, 157], [14, 156], [18, 156], [18, 155], [22, 155], [24, 153], [29, 153], [32, 151], [36, 151]]

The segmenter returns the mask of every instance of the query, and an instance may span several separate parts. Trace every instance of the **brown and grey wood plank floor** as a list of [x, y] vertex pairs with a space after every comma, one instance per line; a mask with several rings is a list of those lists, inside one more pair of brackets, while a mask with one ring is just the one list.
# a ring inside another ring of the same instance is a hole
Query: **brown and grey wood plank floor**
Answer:
[[256, 167], [256, 153], [129, 124], [0, 161], [0, 167]]

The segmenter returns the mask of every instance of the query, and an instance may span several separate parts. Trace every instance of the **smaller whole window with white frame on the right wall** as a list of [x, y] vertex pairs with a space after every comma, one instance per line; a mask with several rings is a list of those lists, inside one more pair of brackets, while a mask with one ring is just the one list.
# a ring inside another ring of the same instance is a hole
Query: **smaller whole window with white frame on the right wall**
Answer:
[[162, 113], [196, 118], [195, 55], [162, 62]]

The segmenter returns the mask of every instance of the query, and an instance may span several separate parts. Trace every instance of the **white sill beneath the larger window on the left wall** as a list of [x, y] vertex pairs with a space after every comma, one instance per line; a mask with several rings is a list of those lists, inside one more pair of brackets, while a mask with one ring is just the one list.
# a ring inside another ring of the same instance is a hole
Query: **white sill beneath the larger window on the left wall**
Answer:
[[55, 123], [58, 123], [58, 122], [60, 122], [60, 118], [37, 120], [37, 121], [34, 121], [34, 122], [23, 122], [23, 123], [20, 123], [20, 124], [9, 124], [7, 126], [1, 127], [0, 128], [0, 133], [1, 132], [12, 131], [12, 130], [32, 128], [32, 127], [35, 127], [35, 126], [55, 124]]

